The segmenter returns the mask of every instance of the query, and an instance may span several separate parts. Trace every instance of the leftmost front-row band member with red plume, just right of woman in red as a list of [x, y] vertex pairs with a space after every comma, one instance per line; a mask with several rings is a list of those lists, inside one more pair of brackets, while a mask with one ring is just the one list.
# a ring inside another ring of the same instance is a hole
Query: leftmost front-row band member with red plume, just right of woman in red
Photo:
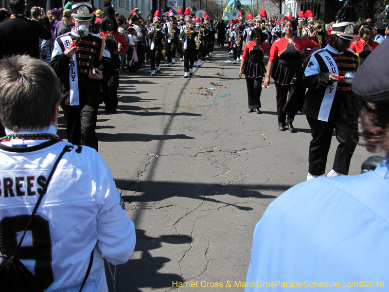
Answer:
[[[159, 10], [157, 10], [159, 13]], [[156, 13], [157, 13], [156, 12]], [[160, 14], [159, 14], [160, 15]], [[160, 27], [160, 30], [156, 28]], [[160, 18], [158, 16], [154, 17], [153, 25], [149, 27], [147, 31], [147, 38], [149, 39], [150, 46], [150, 67], [151, 67], [151, 76], [155, 76], [155, 65], [157, 63], [157, 73], [161, 72], [161, 67], [159, 66], [160, 60], [163, 58], [162, 55], [162, 39], [164, 37], [164, 30], [161, 27]]]

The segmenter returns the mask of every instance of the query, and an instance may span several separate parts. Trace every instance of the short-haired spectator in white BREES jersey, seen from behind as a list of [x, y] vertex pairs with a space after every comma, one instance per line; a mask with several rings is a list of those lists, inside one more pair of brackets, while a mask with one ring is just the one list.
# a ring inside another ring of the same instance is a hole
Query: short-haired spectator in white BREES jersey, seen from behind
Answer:
[[112, 264], [128, 260], [134, 223], [96, 150], [56, 135], [60, 99], [48, 65], [26, 55], [1, 61], [0, 120], [7, 136], [0, 141], [0, 257], [12, 256], [28, 230], [15, 256], [43, 290], [80, 291], [86, 279], [83, 291], [107, 292], [103, 255]]

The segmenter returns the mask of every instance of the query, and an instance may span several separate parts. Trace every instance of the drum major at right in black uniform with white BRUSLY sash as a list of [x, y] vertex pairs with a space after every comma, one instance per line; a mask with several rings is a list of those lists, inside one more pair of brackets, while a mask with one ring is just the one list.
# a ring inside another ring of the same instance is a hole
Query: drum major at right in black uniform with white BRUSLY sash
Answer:
[[334, 24], [331, 41], [311, 56], [304, 72], [308, 91], [302, 113], [312, 130], [307, 181], [324, 174], [334, 128], [339, 145], [327, 176], [349, 173], [358, 142], [358, 117], [350, 110], [351, 84], [336, 77], [358, 69], [358, 56], [348, 50], [353, 32], [353, 22]]

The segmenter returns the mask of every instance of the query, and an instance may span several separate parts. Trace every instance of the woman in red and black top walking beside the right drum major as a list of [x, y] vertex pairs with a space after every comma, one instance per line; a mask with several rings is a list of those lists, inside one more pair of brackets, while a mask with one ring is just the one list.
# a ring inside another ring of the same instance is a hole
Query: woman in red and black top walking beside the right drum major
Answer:
[[[297, 37], [297, 22], [288, 19], [285, 23], [285, 37], [273, 42], [270, 49], [269, 62], [267, 64], [264, 87], [270, 84], [270, 74], [276, 86], [278, 129], [284, 131], [286, 124], [289, 131], [294, 132], [292, 122], [295, 114], [289, 113], [286, 120], [286, 112], [283, 107], [286, 104], [288, 91], [293, 87], [294, 79], [300, 74], [302, 69], [301, 54], [303, 49], [310, 48], [310, 54], [305, 58], [309, 59], [311, 54], [319, 49], [318, 43], [307, 37]], [[304, 60], [305, 60], [304, 59]]]

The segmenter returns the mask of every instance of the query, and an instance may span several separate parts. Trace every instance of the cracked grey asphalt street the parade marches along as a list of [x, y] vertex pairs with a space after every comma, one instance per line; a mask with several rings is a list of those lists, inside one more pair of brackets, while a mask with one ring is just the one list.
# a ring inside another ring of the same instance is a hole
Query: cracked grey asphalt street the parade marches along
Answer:
[[[305, 116], [295, 118], [297, 133], [278, 130], [274, 84], [262, 91], [262, 114], [248, 113], [246, 81], [227, 60], [227, 48], [216, 46], [190, 78], [178, 59], [163, 61], [155, 77], [146, 64], [121, 76], [117, 114], [100, 106], [99, 152], [137, 232], [135, 252], [117, 266], [117, 292], [243, 291], [234, 283], [246, 279], [255, 224], [306, 180]], [[62, 116], [58, 133], [66, 137]], [[336, 146], [334, 133], [326, 173]], [[369, 156], [358, 145], [350, 175]], [[173, 287], [182, 282], [195, 287]], [[223, 288], [212, 289], [216, 282]]]

